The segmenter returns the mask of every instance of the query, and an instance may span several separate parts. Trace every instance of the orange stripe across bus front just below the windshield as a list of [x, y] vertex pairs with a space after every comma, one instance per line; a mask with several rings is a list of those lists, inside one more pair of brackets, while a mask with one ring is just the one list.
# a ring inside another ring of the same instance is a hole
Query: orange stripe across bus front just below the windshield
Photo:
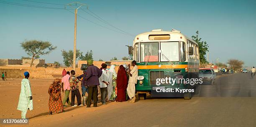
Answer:
[[137, 65], [138, 69], [176, 69], [176, 68], [186, 68], [187, 65]]

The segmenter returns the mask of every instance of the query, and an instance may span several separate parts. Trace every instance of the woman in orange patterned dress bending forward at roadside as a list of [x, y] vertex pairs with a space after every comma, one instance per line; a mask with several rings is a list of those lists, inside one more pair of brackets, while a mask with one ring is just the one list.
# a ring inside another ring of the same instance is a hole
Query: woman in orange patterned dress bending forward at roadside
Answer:
[[52, 112], [58, 112], [61, 111], [65, 112], [62, 100], [61, 100], [61, 85], [60, 85], [61, 79], [56, 78], [53, 82], [53, 84], [50, 85], [48, 93], [50, 95], [49, 98], [49, 111], [50, 115], [52, 115]]

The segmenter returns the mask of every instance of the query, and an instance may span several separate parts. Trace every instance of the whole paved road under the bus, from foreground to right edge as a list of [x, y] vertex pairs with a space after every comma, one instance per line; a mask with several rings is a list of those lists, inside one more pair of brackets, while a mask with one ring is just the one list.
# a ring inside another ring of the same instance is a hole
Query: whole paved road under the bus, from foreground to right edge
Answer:
[[202, 85], [200, 94], [191, 100], [147, 97], [136, 103], [79, 107], [31, 119], [30, 126], [256, 127], [256, 79], [249, 77], [249, 74], [222, 75], [216, 85]]

